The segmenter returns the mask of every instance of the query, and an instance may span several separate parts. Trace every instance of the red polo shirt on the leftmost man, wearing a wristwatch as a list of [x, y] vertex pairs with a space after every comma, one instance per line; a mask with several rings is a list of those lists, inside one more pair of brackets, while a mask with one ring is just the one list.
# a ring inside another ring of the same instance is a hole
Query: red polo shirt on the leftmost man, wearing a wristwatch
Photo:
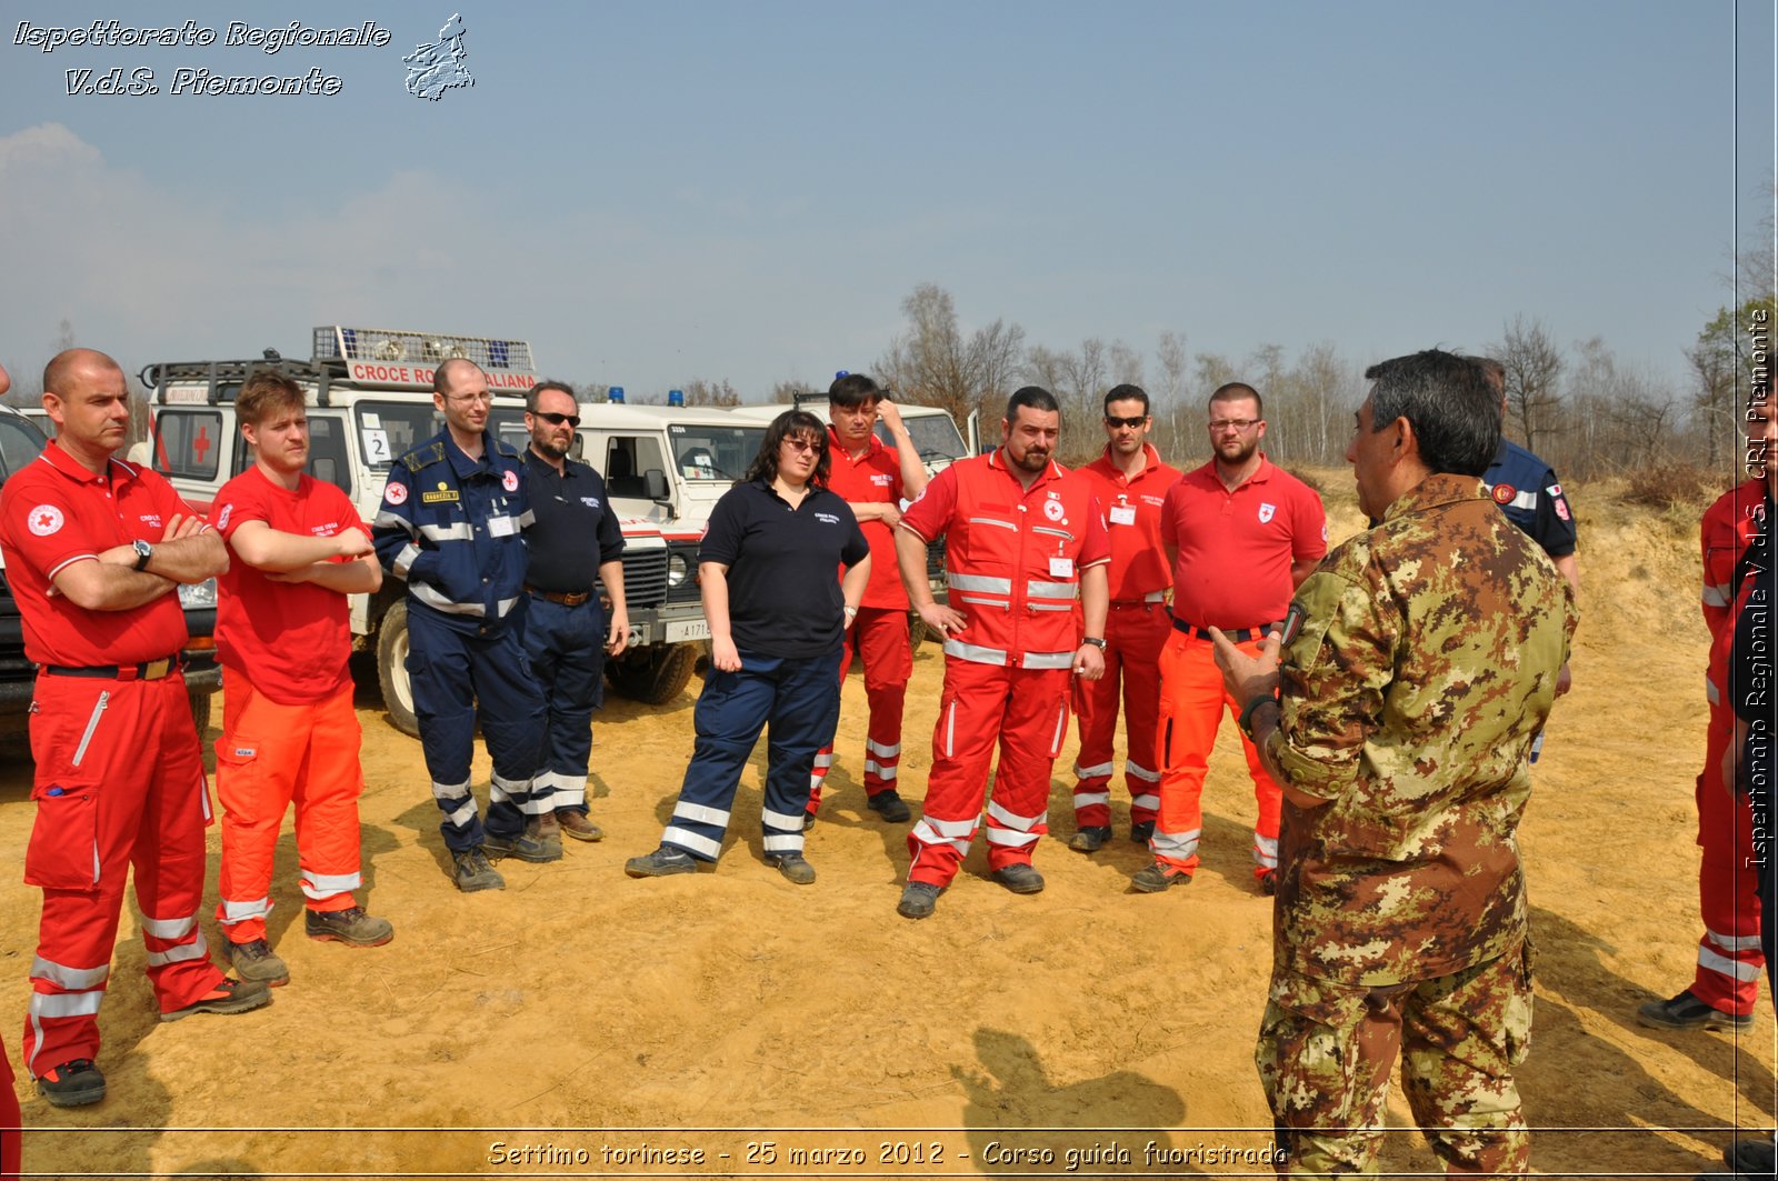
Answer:
[[174, 516], [201, 516], [160, 475], [112, 459], [87, 471], [50, 441], [0, 491], [0, 553], [25, 623], [25, 655], [41, 665], [130, 665], [178, 655], [185, 612], [172, 590], [123, 612], [91, 612], [50, 596], [69, 562], [133, 541], [158, 542]]

